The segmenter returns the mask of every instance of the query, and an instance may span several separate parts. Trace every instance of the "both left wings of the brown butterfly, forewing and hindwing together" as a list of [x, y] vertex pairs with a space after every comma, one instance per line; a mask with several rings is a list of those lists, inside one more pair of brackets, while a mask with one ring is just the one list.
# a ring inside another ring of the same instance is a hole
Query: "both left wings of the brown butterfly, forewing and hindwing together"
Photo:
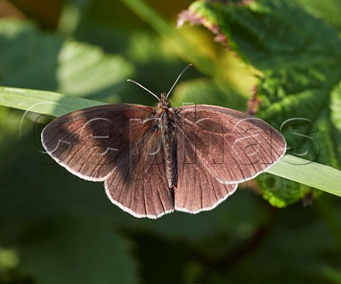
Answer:
[[114, 104], [74, 111], [43, 129], [45, 150], [85, 180], [105, 181], [114, 204], [136, 217], [173, 211], [158, 119], [151, 107]]

